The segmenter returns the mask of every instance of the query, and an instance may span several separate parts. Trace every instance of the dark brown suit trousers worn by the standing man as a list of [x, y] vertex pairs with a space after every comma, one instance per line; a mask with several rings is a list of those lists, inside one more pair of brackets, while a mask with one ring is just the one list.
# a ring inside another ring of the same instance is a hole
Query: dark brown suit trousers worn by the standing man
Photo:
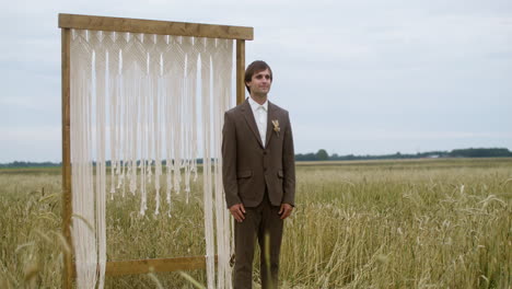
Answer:
[[257, 207], [245, 208], [243, 222], [235, 221], [235, 265], [234, 289], [253, 287], [253, 259], [256, 239], [260, 250], [259, 274], [261, 289], [278, 287], [279, 253], [281, 250], [283, 220], [280, 207], [272, 206], [265, 192], [263, 201]]

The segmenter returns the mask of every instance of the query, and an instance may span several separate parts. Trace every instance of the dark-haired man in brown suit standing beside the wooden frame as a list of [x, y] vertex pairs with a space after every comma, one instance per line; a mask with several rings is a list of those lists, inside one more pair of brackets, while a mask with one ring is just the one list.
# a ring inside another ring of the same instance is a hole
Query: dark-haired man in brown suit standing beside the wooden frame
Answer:
[[235, 289], [252, 288], [256, 239], [261, 288], [277, 288], [283, 220], [293, 210], [295, 163], [288, 112], [270, 103], [272, 70], [254, 61], [245, 71], [251, 97], [228, 111], [222, 130], [225, 200], [235, 221]]

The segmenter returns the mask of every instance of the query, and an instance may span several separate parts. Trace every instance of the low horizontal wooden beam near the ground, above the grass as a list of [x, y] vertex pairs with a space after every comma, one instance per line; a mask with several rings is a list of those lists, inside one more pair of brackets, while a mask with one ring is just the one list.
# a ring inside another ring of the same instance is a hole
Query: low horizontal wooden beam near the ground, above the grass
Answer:
[[[216, 256], [217, 259], [217, 256]], [[177, 257], [156, 259], [130, 259], [106, 263], [105, 276], [146, 274], [176, 270], [195, 270], [206, 268], [206, 257]]]

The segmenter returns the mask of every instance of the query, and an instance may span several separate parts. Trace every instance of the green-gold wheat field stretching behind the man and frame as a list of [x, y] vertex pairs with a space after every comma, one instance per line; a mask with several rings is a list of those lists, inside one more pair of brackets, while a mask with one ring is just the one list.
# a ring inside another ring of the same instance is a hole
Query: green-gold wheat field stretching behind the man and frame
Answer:
[[[304, 163], [296, 181], [280, 288], [512, 288], [512, 159]], [[108, 198], [107, 258], [203, 255], [200, 192], [174, 197], [171, 218]], [[60, 288], [60, 169], [0, 170], [0, 288]], [[166, 273], [106, 288], [196, 287]]]

